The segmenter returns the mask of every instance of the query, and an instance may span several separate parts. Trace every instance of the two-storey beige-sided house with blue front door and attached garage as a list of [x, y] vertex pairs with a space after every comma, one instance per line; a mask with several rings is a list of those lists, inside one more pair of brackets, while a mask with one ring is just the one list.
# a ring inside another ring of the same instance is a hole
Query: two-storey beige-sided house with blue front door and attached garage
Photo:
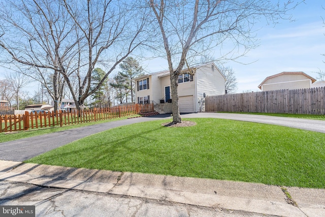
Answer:
[[[225, 94], [225, 78], [213, 63], [192, 67], [190, 71], [184, 70], [185, 74], [178, 77], [180, 112], [203, 111], [205, 96]], [[172, 112], [169, 70], [143, 75], [134, 81], [137, 103], [153, 103], [159, 113]]]

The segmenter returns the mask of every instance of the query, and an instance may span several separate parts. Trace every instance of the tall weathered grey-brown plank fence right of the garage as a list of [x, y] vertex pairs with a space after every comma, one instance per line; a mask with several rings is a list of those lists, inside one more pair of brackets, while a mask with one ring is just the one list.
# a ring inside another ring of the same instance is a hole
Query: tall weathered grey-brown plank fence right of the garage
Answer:
[[324, 115], [325, 87], [208, 96], [205, 110]]

